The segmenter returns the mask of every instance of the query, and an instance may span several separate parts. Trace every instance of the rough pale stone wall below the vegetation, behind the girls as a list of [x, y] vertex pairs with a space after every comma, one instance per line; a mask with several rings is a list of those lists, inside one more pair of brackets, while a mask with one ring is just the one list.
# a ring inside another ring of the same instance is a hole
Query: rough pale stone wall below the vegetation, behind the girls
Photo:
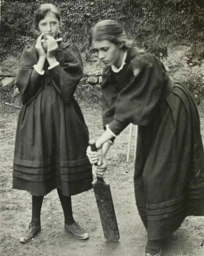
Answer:
[[[162, 55], [162, 54], [161, 54]], [[80, 84], [96, 85], [102, 81], [103, 65], [96, 58], [94, 61], [86, 61], [85, 53], [82, 54], [84, 63], [84, 75]], [[166, 70], [173, 77], [180, 81], [188, 80], [190, 75], [195, 75], [201, 78], [204, 87], [204, 59], [196, 59], [192, 55], [192, 47], [178, 45], [168, 49], [168, 56], [161, 61]], [[15, 76], [19, 65], [19, 58], [10, 56], [0, 64], [0, 86], [3, 90], [10, 90], [14, 87], [14, 95], [18, 93], [15, 88]]]

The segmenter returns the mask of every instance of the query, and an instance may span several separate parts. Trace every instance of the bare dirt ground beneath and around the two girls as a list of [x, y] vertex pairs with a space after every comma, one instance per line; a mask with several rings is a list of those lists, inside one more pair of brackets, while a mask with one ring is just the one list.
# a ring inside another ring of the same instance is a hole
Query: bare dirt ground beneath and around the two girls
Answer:
[[[82, 109], [90, 138], [101, 133], [100, 110]], [[3, 256], [80, 256], [143, 254], [147, 241], [146, 231], [138, 215], [133, 190], [133, 142], [131, 159], [126, 162], [129, 129], [115, 140], [108, 153], [109, 169], [105, 181], [110, 183], [117, 222], [119, 242], [107, 242], [103, 231], [93, 190], [72, 197], [75, 221], [85, 227], [88, 240], [78, 240], [64, 230], [64, 216], [57, 191], [45, 196], [41, 212], [41, 232], [27, 244], [18, 242], [19, 234], [31, 219], [31, 195], [12, 189], [12, 165], [17, 112], [0, 114], [0, 255]], [[201, 118], [204, 138], [204, 118]], [[134, 141], [134, 138], [132, 138]], [[163, 240], [163, 256], [202, 256], [204, 246], [203, 217], [187, 217], [182, 226]]]

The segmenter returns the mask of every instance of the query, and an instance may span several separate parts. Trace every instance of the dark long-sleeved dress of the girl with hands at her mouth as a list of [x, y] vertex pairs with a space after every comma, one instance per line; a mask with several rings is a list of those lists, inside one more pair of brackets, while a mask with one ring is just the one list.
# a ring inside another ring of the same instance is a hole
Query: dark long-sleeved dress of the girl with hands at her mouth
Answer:
[[60, 42], [58, 66], [44, 75], [34, 69], [38, 53], [27, 46], [16, 84], [19, 113], [13, 164], [13, 188], [42, 196], [59, 188], [66, 196], [92, 188], [92, 170], [86, 156], [88, 130], [74, 92], [82, 77], [78, 47]]

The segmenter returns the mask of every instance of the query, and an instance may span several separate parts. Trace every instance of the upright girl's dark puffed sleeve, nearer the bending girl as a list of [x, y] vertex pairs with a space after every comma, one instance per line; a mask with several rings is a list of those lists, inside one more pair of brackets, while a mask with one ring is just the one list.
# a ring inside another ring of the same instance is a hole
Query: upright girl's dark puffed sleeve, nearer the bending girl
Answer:
[[83, 75], [83, 63], [79, 49], [76, 45], [69, 45], [61, 49], [56, 59], [60, 65], [49, 70], [52, 82], [61, 98], [69, 102]]

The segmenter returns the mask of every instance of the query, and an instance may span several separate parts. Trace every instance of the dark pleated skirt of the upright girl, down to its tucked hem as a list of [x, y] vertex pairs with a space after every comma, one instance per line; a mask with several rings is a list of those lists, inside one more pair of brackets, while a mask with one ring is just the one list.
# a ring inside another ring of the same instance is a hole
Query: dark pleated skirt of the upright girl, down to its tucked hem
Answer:
[[53, 87], [45, 87], [19, 113], [13, 188], [36, 196], [46, 195], [54, 188], [66, 196], [91, 189], [88, 139], [75, 99], [65, 103]]

